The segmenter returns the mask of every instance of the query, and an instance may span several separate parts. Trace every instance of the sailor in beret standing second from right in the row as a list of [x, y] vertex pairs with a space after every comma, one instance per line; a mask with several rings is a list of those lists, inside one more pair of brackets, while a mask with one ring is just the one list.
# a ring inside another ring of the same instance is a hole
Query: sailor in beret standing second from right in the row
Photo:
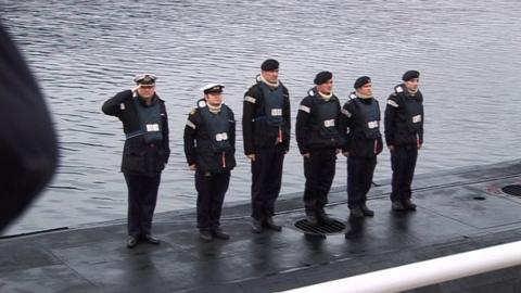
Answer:
[[372, 82], [360, 76], [354, 84], [355, 91], [342, 107], [342, 126], [346, 133], [343, 153], [347, 157], [347, 206], [351, 217], [372, 217], [367, 207], [367, 193], [371, 188], [377, 166], [377, 155], [382, 152], [380, 132], [380, 106], [372, 95]]

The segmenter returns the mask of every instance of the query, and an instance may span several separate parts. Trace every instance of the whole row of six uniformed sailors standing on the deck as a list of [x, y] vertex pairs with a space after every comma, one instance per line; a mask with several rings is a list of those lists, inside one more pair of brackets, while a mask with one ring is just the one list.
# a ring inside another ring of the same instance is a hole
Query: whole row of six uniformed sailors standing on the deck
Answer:
[[[284, 155], [291, 137], [289, 91], [279, 80], [279, 62], [264, 61], [256, 82], [244, 94], [242, 129], [244, 153], [252, 170], [252, 230], [281, 231], [274, 221], [275, 203], [280, 193]], [[139, 75], [132, 90], [117, 93], [103, 104], [103, 112], [117, 116], [126, 135], [122, 171], [128, 187], [127, 246], [152, 235], [152, 216], [161, 173], [168, 162], [168, 124], [163, 100], [155, 93], [156, 77]], [[419, 73], [408, 71], [404, 82], [387, 99], [384, 113], [385, 142], [391, 151], [393, 169], [392, 209], [414, 211], [410, 184], [423, 141], [422, 95], [418, 90]], [[296, 141], [304, 158], [304, 205], [310, 225], [328, 224], [325, 206], [334, 174], [336, 155], [347, 157], [347, 194], [351, 217], [374, 215], [366, 202], [372, 182], [377, 155], [382, 152], [381, 115], [372, 95], [371, 79], [359, 77], [355, 91], [341, 106], [333, 93], [333, 75], [320, 72], [296, 116]], [[198, 191], [198, 228], [204, 242], [229, 239], [220, 227], [225, 193], [230, 170], [236, 166], [236, 118], [223, 103], [220, 84], [202, 88], [185, 127], [185, 153], [195, 173]]]

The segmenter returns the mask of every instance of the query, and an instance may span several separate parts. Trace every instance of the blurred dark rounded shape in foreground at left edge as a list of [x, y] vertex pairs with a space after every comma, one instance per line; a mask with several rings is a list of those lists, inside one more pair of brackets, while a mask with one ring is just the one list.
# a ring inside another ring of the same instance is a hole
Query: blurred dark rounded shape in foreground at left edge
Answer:
[[0, 24], [0, 231], [52, 178], [58, 142], [25, 60]]

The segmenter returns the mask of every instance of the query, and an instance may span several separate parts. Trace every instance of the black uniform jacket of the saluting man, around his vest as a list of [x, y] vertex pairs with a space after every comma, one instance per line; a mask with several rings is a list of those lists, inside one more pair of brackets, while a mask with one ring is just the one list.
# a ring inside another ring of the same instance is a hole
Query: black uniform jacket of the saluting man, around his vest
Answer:
[[[131, 133], [140, 129], [139, 116], [134, 102], [131, 90], [125, 90], [109, 99], [102, 106], [103, 113], [116, 116], [123, 123], [125, 133]], [[165, 102], [154, 95], [155, 103], [160, 103], [162, 116], [163, 140], [160, 143], [145, 143], [143, 136], [136, 136], [125, 140], [123, 149], [122, 171], [130, 175], [155, 176], [160, 174], [168, 162], [170, 148], [168, 141], [168, 117]], [[140, 100], [141, 106], [147, 106]]]

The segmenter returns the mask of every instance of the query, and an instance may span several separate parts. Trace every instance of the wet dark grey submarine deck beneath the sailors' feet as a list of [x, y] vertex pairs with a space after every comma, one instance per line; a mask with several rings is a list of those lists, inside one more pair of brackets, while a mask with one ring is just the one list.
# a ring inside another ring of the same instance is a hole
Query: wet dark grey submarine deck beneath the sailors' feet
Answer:
[[[247, 203], [227, 206], [228, 241], [203, 243], [193, 211], [156, 215], [161, 245], [125, 246], [124, 220], [0, 240], [0, 292], [274, 292], [521, 240], [521, 162], [417, 176], [415, 213], [390, 208], [389, 183], [371, 190], [374, 218], [350, 221], [346, 193], [328, 213], [346, 229], [326, 238], [294, 227], [301, 194], [284, 194], [282, 232], [255, 234]], [[351, 231], [345, 239], [344, 232]], [[441, 268], [443, 269], [443, 268]], [[519, 267], [412, 292], [520, 292]]]

